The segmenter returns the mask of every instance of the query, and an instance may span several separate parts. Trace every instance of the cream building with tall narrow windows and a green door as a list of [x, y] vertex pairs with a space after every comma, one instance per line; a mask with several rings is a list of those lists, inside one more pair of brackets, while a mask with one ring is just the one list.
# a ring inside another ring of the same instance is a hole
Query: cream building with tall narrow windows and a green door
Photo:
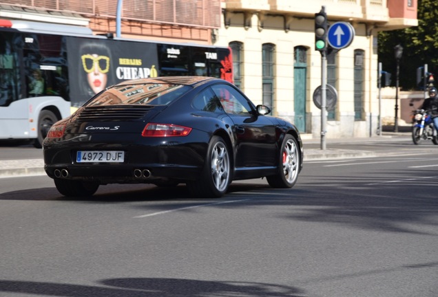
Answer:
[[315, 13], [324, 5], [329, 23], [355, 30], [348, 47], [327, 56], [327, 83], [337, 101], [327, 114], [328, 137], [377, 133], [377, 32], [417, 25], [410, 0], [240, 0], [222, 3], [218, 43], [233, 48], [235, 81], [256, 102], [318, 137], [321, 110], [313, 92], [321, 85], [321, 55], [315, 50]]

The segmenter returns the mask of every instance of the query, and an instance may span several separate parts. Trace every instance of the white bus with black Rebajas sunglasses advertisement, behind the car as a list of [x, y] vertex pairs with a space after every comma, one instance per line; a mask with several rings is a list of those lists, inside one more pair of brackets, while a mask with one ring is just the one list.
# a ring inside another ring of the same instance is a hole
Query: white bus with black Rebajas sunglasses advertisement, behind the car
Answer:
[[231, 50], [112, 39], [83, 27], [0, 20], [0, 140], [28, 139], [39, 148], [54, 122], [110, 85], [189, 75], [233, 83]]

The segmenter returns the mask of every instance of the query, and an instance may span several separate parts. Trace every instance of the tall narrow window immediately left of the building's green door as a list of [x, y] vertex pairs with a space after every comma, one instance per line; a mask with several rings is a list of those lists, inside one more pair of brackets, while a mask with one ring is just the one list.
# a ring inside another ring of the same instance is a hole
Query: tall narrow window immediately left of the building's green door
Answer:
[[263, 76], [263, 104], [273, 111], [273, 85], [274, 85], [274, 52], [275, 45], [264, 43], [262, 45], [262, 76]]

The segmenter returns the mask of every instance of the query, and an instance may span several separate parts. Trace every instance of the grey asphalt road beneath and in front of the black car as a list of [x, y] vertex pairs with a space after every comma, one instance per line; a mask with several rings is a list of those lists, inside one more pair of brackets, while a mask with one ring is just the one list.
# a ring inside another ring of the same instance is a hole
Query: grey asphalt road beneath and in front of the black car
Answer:
[[435, 152], [306, 162], [292, 189], [0, 179], [0, 296], [438, 295]]

